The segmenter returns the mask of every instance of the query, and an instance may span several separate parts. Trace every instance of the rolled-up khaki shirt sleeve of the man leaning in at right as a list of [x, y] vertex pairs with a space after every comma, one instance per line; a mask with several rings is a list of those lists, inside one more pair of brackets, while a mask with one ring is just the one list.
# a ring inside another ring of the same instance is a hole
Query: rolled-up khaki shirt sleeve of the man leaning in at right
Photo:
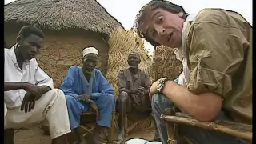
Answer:
[[213, 92], [225, 98], [232, 90], [232, 77], [250, 46], [234, 26], [200, 22], [191, 26], [186, 45], [190, 82], [194, 94]]

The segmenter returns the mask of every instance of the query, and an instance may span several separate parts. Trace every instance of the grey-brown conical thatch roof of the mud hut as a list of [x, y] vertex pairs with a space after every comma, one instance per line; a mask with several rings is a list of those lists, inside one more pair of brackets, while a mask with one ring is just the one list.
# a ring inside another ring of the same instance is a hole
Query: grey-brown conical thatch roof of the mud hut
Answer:
[[49, 30], [78, 28], [109, 34], [122, 26], [96, 0], [17, 0], [4, 6], [5, 22]]

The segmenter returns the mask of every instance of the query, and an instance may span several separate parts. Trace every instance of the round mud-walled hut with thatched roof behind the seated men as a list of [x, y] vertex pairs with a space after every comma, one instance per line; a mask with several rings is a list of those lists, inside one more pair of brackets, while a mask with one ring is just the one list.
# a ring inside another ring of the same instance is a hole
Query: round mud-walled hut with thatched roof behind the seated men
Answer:
[[17, 0], [5, 5], [4, 12], [6, 46], [14, 45], [25, 25], [37, 26], [46, 34], [38, 61], [55, 86], [71, 65], [81, 63], [86, 46], [99, 50], [98, 67], [106, 74], [108, 38], [122, 25], [96, 0]]

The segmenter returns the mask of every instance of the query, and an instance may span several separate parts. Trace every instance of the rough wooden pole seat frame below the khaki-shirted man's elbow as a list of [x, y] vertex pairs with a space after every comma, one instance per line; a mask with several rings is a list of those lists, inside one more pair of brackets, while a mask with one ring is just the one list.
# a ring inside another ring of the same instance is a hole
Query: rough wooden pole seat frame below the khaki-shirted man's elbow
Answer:
[[[252, 126], [235, 122], [199, 122], [182, 113], [176, 113], [175, 108], [166, 109], [161, 115], [162, 121], [167, 123], [169, 144], [180, 144], [182, 138], [178, 135], [178, 125], [196, 126], [205, 130], [213, 130], [222, 134], [229, 134], [234, 138], [241, 138], [252, 142]], [[188, 140], [186, 140], [186, 143]]]

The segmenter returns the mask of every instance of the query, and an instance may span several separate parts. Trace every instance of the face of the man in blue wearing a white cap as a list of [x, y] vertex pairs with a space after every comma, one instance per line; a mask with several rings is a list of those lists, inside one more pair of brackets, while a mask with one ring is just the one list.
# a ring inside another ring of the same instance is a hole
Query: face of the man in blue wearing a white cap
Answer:
[[84, 58], [82, 58], [83, 69], [86, 73], [91, 74], [95, 69], [98, 61], [97, 54], [86, 54]]

